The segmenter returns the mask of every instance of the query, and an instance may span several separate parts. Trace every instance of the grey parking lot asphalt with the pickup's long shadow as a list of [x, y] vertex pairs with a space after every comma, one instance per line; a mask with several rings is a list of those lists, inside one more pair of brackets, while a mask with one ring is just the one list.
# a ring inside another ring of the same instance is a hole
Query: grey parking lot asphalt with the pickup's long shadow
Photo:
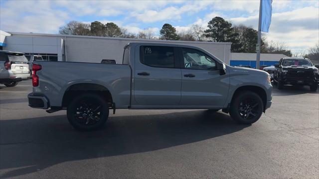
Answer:
[[253, 125], [207, 110], [117, 110], [78, 132], [0, 86], [0, 178], [319, 178], [319, 93], [273, 90]]

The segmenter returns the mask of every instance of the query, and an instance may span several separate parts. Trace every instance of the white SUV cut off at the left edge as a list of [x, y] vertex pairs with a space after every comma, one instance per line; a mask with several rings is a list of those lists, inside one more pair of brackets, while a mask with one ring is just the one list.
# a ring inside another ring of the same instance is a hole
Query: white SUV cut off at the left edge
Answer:
[[28, 61], [23, 53], [0, 50], [0, 84], [14, 87], [30, 78]]

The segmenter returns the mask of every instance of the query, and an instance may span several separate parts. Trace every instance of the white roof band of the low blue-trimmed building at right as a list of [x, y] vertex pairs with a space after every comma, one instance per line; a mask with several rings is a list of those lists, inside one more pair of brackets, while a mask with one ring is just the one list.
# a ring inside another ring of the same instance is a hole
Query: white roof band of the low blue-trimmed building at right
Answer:
[[[231, 60], [256, 61], [256, 53], [231, 53]], [[279, 61], [281, 58], [288, 58], [284, 54], [260, 54], [260, 61]]]

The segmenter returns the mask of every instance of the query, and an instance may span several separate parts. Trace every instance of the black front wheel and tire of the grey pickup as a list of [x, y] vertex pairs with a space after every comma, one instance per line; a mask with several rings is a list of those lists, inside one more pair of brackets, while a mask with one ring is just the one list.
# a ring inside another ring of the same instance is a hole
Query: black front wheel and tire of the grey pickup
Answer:
[[[246, 105], [247, 104], [247, 105]], [[241, 124], [252, 124], [262, 115], [264, 103], [253, 91], [240, 91], [230, 104], [230, 116]]]

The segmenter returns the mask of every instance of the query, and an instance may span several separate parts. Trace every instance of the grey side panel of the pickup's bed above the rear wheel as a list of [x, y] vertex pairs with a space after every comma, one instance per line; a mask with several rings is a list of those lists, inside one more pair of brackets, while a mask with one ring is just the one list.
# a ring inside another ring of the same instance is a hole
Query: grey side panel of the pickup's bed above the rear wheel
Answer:
[[36, 72], [39, 86], [33, 88], [33, 93], [44, 94], [50, 106], [61, 106], [64, 92], [75, 84], [101, 85], [116, 96], [117, 107], [127, 108], [130, 104], [129, 65], [49, 61], [34, 64], [41, 65], [42, 69]]

